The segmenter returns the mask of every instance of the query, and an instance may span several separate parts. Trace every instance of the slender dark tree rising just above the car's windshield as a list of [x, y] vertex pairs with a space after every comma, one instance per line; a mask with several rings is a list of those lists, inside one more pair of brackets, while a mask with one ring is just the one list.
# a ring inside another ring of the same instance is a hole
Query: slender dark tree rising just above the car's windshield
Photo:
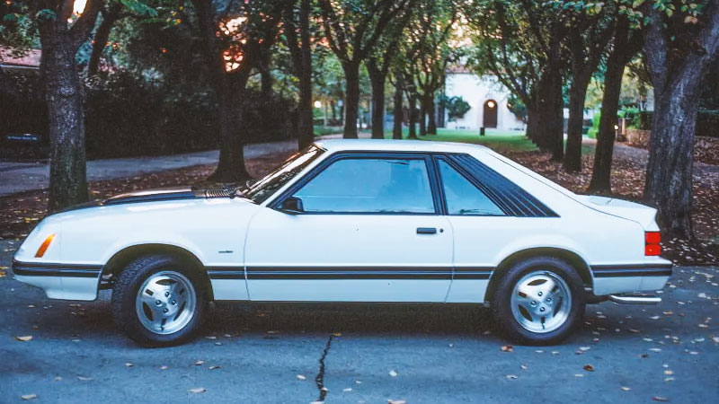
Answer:
[[[297, 7], [297, 3], [299, 3]], [[292, 65], [299, 80], [297, 108], [297, 137], [299, 147], [310, 145], [315, 139], [312, 114], [312, 49], [310, 48], [310, 0], [287, 2], [284, 10], [285, 38], [292, 57]], [[297, 38], [299, 37], [299, 38]]]

